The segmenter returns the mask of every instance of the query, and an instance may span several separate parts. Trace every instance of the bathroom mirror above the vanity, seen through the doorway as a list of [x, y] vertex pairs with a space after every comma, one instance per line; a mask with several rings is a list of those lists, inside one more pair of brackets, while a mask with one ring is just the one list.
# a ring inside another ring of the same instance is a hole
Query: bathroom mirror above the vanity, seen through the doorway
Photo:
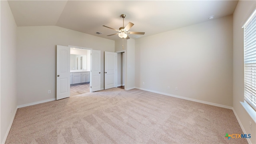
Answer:
[[87, 56], [70, 54], [70, 70], [86, 70]]

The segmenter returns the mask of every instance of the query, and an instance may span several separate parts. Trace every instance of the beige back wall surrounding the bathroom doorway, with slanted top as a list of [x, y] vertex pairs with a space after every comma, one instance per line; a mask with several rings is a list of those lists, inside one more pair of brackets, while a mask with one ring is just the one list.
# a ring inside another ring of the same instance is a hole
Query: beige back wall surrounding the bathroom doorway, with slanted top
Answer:
[[58, 26], [18, 27], [17, 34], [18, 106], [56, 98], [56, 45], [101, 50], [104, 88], [104, 51], [114, 52], [113, 40]]

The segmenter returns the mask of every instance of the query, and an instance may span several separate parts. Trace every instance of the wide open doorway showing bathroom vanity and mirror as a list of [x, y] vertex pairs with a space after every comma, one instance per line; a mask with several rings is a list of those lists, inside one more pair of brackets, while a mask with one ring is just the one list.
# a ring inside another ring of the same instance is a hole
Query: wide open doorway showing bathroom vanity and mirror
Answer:
[[70, 96], [90, 92], [91, 50], [70, 47]]

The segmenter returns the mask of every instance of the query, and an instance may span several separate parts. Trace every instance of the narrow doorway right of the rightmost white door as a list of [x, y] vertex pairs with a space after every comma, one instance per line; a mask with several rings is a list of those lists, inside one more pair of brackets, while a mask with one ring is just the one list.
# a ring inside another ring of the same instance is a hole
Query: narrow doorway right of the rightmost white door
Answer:
[[125, 52], [117, 52], [117, 87], [125, 88]]

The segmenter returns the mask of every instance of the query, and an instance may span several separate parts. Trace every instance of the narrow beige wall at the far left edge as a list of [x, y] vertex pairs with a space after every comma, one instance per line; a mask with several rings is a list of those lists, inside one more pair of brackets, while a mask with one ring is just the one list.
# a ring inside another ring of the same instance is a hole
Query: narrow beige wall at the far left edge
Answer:
[[[4, 143], [17, 109], [16, 23], [7, 1], [1, 0], [0, 143]], [[12, 112], [10, 112], [12, 109]]]

